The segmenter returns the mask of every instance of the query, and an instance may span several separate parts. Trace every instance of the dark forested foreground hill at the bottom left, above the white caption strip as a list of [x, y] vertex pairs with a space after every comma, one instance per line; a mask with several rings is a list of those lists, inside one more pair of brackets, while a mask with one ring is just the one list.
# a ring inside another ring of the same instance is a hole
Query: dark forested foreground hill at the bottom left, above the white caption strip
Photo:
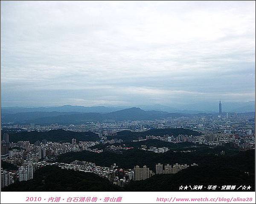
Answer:
[[16, 182], [2, 191], [120, 191], [107, 178], [89, 172], [64, 170], [55, 166], [36, 170], [29, 181]]

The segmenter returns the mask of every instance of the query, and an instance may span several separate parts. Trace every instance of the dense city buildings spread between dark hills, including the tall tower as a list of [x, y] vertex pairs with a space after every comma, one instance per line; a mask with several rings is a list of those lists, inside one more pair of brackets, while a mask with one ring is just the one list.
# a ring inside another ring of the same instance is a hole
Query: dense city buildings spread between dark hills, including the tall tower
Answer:
[[[113, 152], [122, 154], [123, 151], [131, 149], [140, 149], [145, 152], [154, 152], [163, 154], [164, 152], [177, 152], [169, 147], [154, 147], [146, 145], [136, 145], [141, 142], [161, 141], [163, 144], [182, 144], [189, 143], [196, 145], [206, 145], [208, 147], [225, 147], [246, 151], [255, 149], [255, 129], [254, 116], [252, 114], [223, 113], [221, 102], [219, 103], [218, 115], [212, 116], [205, 114], [201, 116], [175, 117], [154, 121], [104, 121], [88, 122], [79, 125], [58, 125], [51, 124], [41, 126], [36, 124], [9, 125], [2, 126], [3, 133], [1, 141], [1, 162], [15, 165], [17, 170], [6, 170], [1, 168], [1, 188], [7, 187], [12, 183], [28, 181], [33, 179], [35, 172], [42, 167], [56, 166], [61, 169], [76, 170], [81, 172], [92, 172], [101, 177], [107, 178], [111, 184], [120, 187], [127, 186], [131, 181], [140, 181], [151, 178], [159, 174], [175, 174], [189, 166], [198, 166], [195, 162], [191, 164], [160, 164], [155, 161], [155, 169], [149, 169], [147, 164], [143, 167], [138, 165], [130, 169], [118, 167], [118, 163], [113, 163], [109, 167], [99, 166], [90, 161], [74, 160], [70, 163], [58, 162], [58, 156], [69, 154], [70, 152], [93, 152], [94, 154], [103, 154], [103, 152]], [[192, 129], [200, 132], [198, 135], [145, 135], [138, 136], [126, 143], [117, 135], [122, 131], [131, 131], [135, 133], [146, 132], [150, 129]], [[70, 142], [53, 142], [43, 139], [34, 143], [31, 141], [13, 142], [9, 138], [12, 132], [48, 132], [52, 130], [64, 129], [71, 132], [92, 131], [98, 139], [93, 141], [77, 141], [73, 138]], [[10, 132], [10, 133], [9, 133]], [[193, 152], [196, 150], [180, 150], [179, 152]], [[225, 151], [219, 152], [225, 155]], [[164, 168], [163, 168], [164, 167]]]

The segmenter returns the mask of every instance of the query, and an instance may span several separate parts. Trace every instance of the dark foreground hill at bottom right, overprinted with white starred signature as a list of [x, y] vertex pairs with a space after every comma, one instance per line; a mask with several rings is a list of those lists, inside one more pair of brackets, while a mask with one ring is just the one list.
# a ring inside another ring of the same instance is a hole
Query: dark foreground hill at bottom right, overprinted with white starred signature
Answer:
[[[180, 186], [203, 185], [202, 190], [179, 190]], [[216, 190], [208, 190], [208, 185], [217, 186]], [[255, 191], [255, 175], [225, 166], [193, 166], [176, 174], [155, 175], [143, 181], [135, 181], [125, 187], [125, 191], [221, 191], [222, 186], [236, 185], [236, 190], [225, 191]], [[251, 186], [250, 190], [242, 190], [239, 186]], [[224, 191], [224, 190], [223, 190]]]

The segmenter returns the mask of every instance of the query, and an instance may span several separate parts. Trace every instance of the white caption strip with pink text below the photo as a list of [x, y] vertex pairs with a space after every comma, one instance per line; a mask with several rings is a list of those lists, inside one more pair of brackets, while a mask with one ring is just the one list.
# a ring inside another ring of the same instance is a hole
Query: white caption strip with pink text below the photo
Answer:
[[255, 203], [255, 192], [1, 192], [1, 203]]

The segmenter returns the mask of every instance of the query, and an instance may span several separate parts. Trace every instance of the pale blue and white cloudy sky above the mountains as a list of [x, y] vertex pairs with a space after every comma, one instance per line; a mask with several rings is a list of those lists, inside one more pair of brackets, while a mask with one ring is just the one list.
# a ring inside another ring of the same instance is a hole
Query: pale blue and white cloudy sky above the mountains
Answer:
[[254, 101], [255, 2], [3, 2], [2, 106]]

